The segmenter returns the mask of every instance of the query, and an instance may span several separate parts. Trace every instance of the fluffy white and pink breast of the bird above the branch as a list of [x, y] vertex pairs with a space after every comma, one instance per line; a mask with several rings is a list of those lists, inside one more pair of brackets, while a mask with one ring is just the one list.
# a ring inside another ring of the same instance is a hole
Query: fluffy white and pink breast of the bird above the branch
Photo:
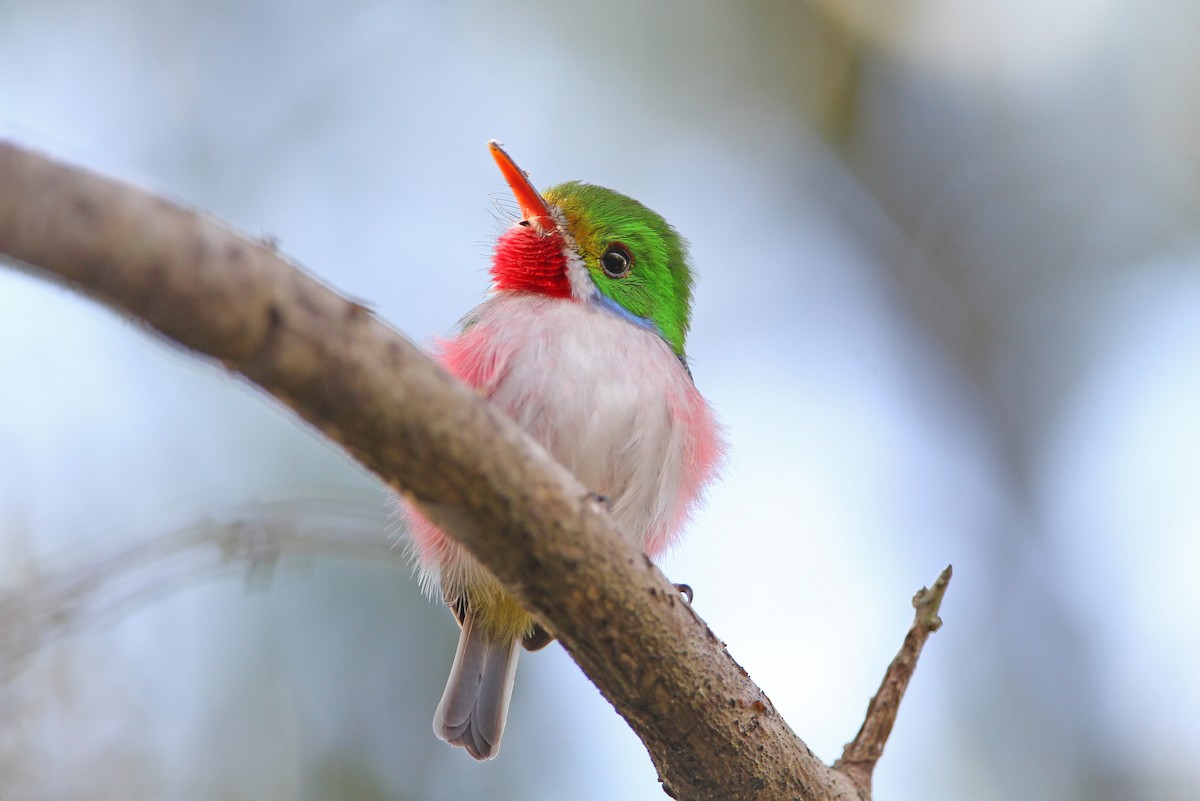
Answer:
[[502, 293], [440, 344], [452, 373], [610, 499], [646, 553], [671, 542], [722, 446], [661, 337], [594, 305]]

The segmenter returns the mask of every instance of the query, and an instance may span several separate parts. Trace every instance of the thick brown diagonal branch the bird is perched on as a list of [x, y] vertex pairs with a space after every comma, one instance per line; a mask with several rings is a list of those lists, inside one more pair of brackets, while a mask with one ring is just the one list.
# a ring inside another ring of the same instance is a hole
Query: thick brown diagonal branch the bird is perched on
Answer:
[[0, 253], [218, 360], [462, 542], [562, 640], [678, 799], [866, 799], [584, 487], [362, 306], [167, 200], [0, 144]]

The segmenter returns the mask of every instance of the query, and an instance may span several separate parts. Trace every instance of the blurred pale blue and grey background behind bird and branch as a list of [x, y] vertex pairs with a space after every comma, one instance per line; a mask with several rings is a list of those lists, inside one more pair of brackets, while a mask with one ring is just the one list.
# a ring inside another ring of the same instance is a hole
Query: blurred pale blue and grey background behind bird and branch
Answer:
[[[948, 562], [876, 797], [1200, 796], [1200, 6], [0, 0], [0, 135], [203, 209], [409, 337], [502, 139], [664, 213], [733, 458], [667, 574], [823, 759]], [[2, 187], [0, 187], [2, 191]], [[498, 219], [498, 217], [500, 219]], [[664, 797], [563, 654], [503, 753], [377, 482], [0, 270], [0, 799]]]

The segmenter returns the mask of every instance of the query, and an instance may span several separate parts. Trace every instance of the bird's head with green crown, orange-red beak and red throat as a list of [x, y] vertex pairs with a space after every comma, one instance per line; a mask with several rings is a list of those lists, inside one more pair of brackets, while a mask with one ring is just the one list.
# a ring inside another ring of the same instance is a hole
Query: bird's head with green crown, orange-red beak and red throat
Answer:
[[[497, 143], [492, 156], [524, 217], [497, 246], [492, 277], [498, 289], [588, 300], [578, 255], [601, 303], [653, 326], [684, 357], [691, 318], [688, 246], [661, 216], [632, 198], [569, 181], [539, 193]], [[564, 255], [568, 254], [568, 255]]]

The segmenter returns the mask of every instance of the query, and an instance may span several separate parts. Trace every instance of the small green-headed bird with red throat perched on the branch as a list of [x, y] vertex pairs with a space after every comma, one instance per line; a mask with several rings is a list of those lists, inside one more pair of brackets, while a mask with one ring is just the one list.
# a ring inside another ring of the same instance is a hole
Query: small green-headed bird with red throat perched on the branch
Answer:
[[[488, 149], [520, 219], [496, 242], [488, 297], [433, 343], [433, 355], [602, 499], [653, 559], [676, 541], [726, 453], [684, 350], [686, 242], [612, 189], [568, 181], [539, 192], [498, 141]], [[433, 730], [492, 759], [522, 646], [553, 638], [419, 506], [400, 508], [424, 586], [461, 626]]]

